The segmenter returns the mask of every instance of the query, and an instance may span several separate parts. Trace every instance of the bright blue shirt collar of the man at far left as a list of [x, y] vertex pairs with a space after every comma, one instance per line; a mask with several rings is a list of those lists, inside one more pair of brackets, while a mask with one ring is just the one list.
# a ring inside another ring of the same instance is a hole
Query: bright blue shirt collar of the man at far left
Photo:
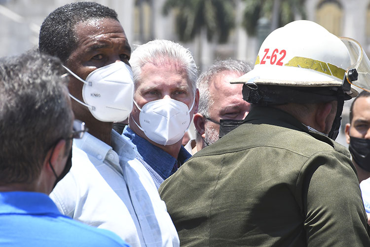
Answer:
[[0, 214], [61, 214], [51, 199], [38, 192], [0, 192]]

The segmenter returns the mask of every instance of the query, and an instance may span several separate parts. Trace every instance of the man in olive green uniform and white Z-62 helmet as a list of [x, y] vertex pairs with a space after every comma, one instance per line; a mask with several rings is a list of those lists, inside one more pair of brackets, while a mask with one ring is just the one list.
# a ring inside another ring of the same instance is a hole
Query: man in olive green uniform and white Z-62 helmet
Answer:
[[266, 38], [234, 81], [252, 103], [244, 124], [159, 189], [181, 246], [370, 246], [355, 168], [333, 141], [358, 94], [351, 42], [310, 21]]

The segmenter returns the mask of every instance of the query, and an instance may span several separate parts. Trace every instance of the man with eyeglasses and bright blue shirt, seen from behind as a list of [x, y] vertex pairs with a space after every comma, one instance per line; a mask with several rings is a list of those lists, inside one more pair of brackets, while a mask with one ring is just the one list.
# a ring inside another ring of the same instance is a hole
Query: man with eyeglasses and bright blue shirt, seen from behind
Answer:
[[62, 215], [47, 196], [71, 168], [74, 120], [59, 59], [0, 59], [0, 246], [122, 247], [115, 234]]

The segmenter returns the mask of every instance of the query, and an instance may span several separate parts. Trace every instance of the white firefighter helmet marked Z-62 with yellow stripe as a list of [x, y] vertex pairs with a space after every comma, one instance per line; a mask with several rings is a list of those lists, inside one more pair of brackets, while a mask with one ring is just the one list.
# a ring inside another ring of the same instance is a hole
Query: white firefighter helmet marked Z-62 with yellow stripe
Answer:
[[[259, 49], [254, 69], [231, 83], [341, 86], [346, 72], [359, 63], [360, 55], [350, 54], [348, 46], [352, 45], [353, 50], [369, 61], [359, 44], [352, 41], [342, 41], [312, 21], [291, 22], [268, 35]], [[358, 92], [351, 88], [346, 94], [355, 97]]]

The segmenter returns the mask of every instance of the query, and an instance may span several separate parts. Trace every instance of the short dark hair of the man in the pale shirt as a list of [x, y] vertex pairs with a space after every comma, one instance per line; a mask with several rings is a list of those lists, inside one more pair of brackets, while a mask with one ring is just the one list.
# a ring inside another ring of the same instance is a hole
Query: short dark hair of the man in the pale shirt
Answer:
[[66, 62], [76, 49], [75, 25], [102, 18], [118, 21], [117, 13], [113, 9], [96, 2], [73, 2], [55, 9], [41, 24], [39, 50]]

